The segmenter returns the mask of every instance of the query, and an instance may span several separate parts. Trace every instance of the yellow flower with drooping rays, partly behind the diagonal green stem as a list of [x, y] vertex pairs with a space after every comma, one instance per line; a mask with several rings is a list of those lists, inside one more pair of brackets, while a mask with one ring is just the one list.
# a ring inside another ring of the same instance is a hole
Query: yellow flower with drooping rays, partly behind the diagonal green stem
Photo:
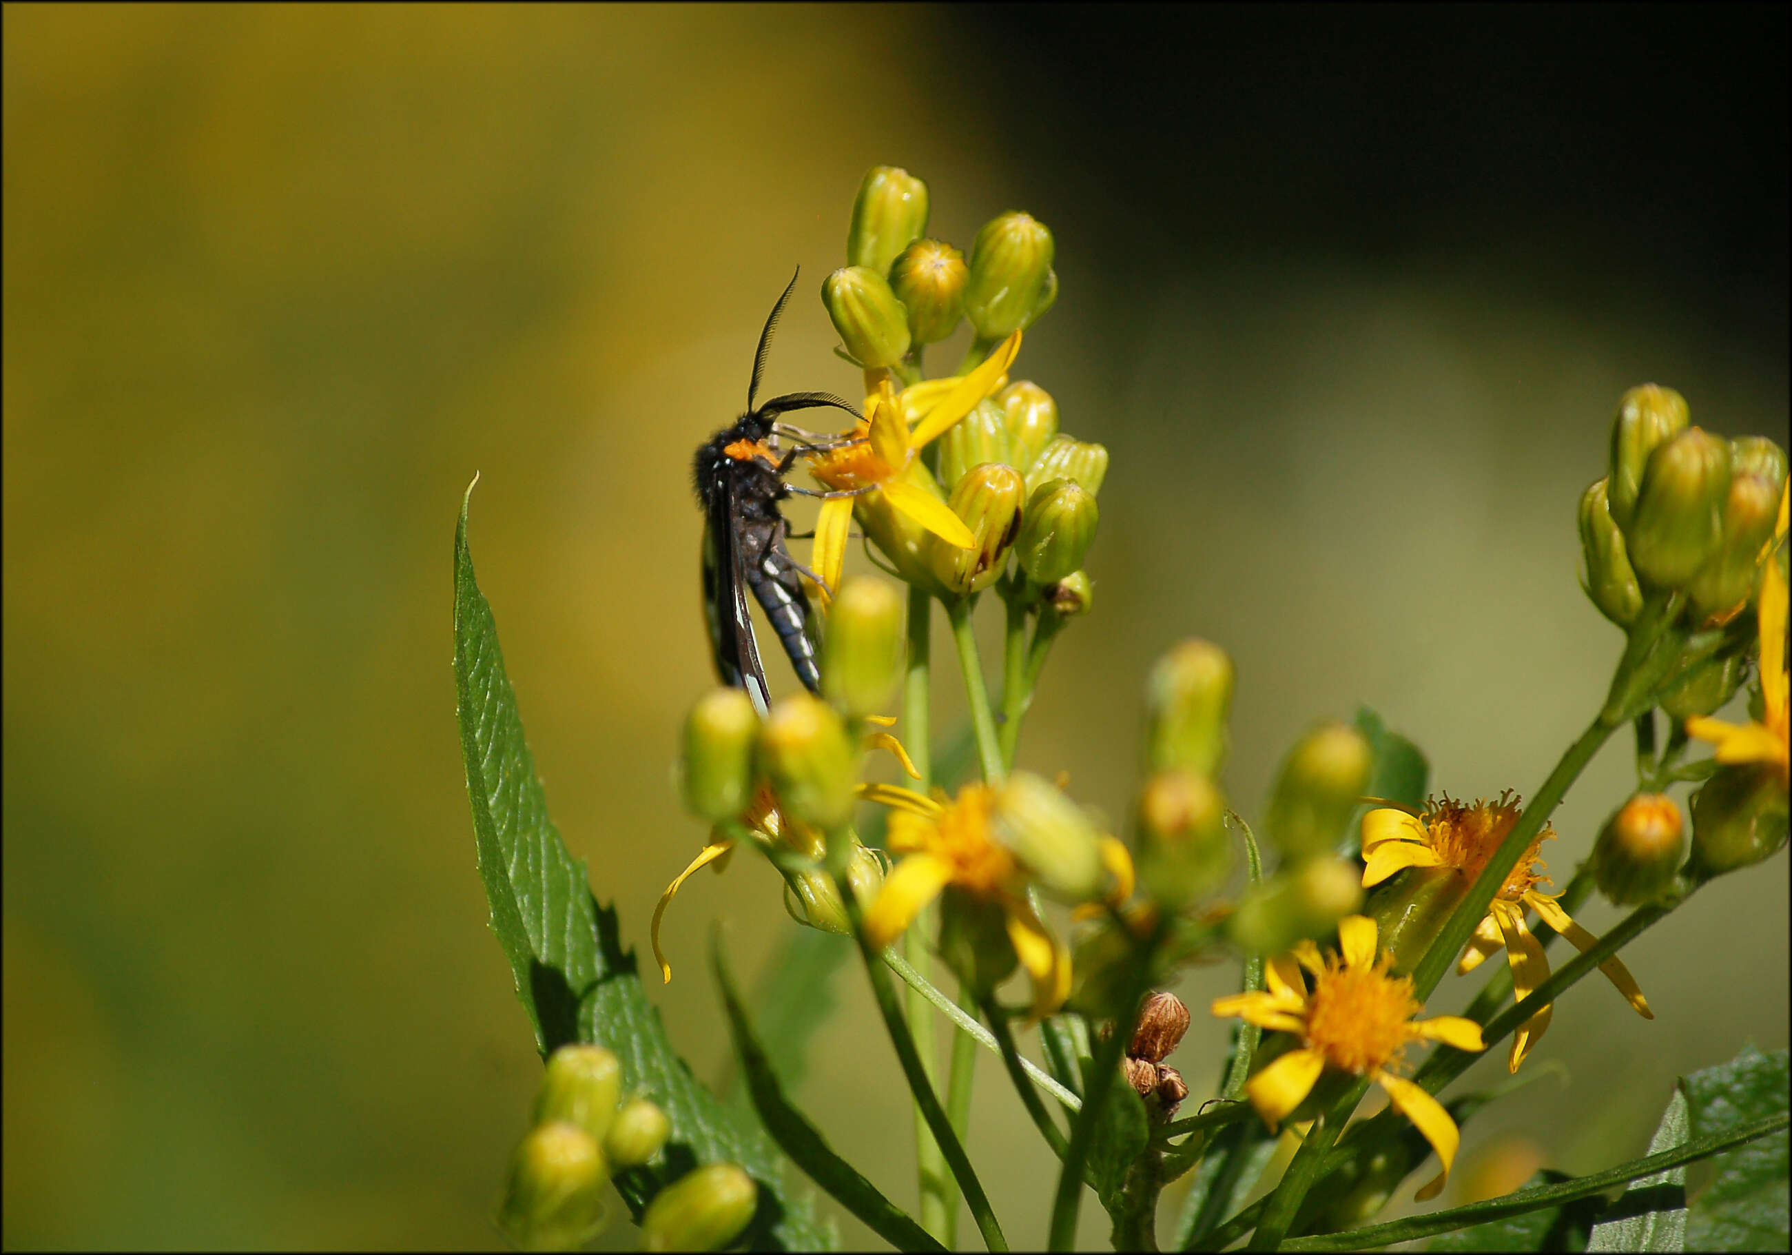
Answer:
[[[1518, 801], [1516, 794], [1502, 792], [1498, 801], [1477, 801], [1473, 807], [1444, 796], [1443, 801], [1428, 803], [1419, 816], [1394, 809], [1371, 810], [1362, 818], [1362, 853], [1367, 861], [1362, 886], [1367, 889], [1405, 868], [1444, 868], [1455, 873], [1460, 878], [1460, 889], [1468, 891], [1468, 886], [1475, 884], [1475, 877], [1505, 841], [1505, 834], [1518, 823], [1518, 816], [1523, 814]], [[1486, 918], [1475, 925], [1475, 936], [1469, 938], [1462, 961], [1457, 963], [1459, 975], [1473, 972], [1482, 959], [1496, 954], [1503, 945], [1505, 957], [1512, 965], [1512, 997], [1520, 1002], [1550, 979], [1550, 961], [1543, 954], [1543, 945], [1525, 927], [1527, 905], [1545, 923], [1568, 938], [1575, 948], [1590, 950], [1598, 945], [1598, 938], [1561, 909], [1561, 904], [1555, 902], [1559, 895], [1548, 895], [1538, 887], [1546, 878], [1538, 852], [1545, 841], [1554, 837], [1555, 832], [1543, 825], [1543, 832], [1532, 839], [1523, 857], [1512, 866], [1511, 875], [1505, 877], [1505, 884], [1493, 895]], [[1643, 991], [1636, 986], [1636, 979], [1616, 956], [1600, 963], [1598, 970], [1638, 1015], [1645, 1020], [1656, 1018]], [[1518, 1027], [1512, 1034], [1509, 1070], [1518, 1070], [1525, 1054], [1548, 1026], [1550, 1006], [1546, 1004]]]

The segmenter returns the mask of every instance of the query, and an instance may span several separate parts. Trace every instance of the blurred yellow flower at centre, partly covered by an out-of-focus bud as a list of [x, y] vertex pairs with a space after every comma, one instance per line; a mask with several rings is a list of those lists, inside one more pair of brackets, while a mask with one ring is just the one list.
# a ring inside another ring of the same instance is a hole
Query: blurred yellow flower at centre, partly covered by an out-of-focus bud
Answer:
[[889, 852], [901, 861], [866, 913], [866, 939], [882, 950], [900, 938], [946, 886], [1002, 909], [1009, 943], [1032, 981], [1034, 1018], [1070, 995], [1070, 950], [1027, 902], [1021, 862], [991, 835], [996, 791], [971, 783], [959, 796], [923, 798], [896, 785], [866, 785], [864, 796], [891, 807]]

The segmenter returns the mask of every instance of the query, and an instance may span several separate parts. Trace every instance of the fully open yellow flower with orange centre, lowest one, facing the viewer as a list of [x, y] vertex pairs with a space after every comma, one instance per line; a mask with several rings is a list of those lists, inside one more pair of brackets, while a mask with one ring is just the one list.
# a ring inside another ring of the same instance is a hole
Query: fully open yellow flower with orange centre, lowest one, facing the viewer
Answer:
[[[1414, 1020], [1425, 1008], [1412, 997], [1412, 977], [1389, 974], [1392, 950], [1378, 952], [1374, 920], [1351, 914], [1339, 922], [1342, 956], [1319, 956], [1319, 947], [1301, 941], [1292, 956], [1263, 965], [1267, 990], [1213, 1000], [1213, 1015], [1240, 1017], [1263, 1029], [1292, 1033], [1301, 1045], [1245, 1081], [1245, 1095], [1263, 1122], [1276, 1130], [1306, 1101], [1328, 1067], [1367, 1076], [1389, 1103], [1443, 1160], [1443, 1171], [1419, 1190], [1419, 1201], [1437, 1198], [1450, 1180], [1460, 1133], [1443, 1104], [1412, 1081], [1396, 1076], [1409, 1042], [1444, 1042], [1459, 1051], [1484, 1051], [1480, 1026], [1459, 1015]], [[1314, 977], [1312, 991], [1301, 977]]]

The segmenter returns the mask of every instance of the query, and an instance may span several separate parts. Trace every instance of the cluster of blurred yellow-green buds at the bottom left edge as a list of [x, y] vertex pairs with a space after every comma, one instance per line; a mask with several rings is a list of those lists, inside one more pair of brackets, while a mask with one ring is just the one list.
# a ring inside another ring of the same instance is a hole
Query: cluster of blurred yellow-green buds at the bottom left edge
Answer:
[[[622, 1065], [597, 1045], [563, 1045], [536, 1092], [534, 1124], [516, 1147], [498, 1226], [523, 1250], [577, 1250], [607, 1214], [615, 1173], [652, 1162], [672, 1133], [667, 1113], [622, 1097]], [[753, 1178], [711, 1164], [659, 1190], [642, 1217], [647, 1250], [706, 1251], [731, 1242], [758, 1199]]]

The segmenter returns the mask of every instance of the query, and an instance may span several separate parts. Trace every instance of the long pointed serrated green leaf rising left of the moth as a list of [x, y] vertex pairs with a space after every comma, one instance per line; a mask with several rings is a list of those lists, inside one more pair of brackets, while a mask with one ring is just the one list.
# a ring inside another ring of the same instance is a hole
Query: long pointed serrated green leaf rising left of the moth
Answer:
[[[471, 493], [470, 486], [468, 498]], [[498, 628], [473, 577], [466, 518], [462, 498], [453, 608], [461, 748], [491, 929], [511, 963], [536, 1049], [543, 1058], [568, 1042], [615, 1051], [627, 1085], [670, 1117], [672, 1137], [656, 1167], [616, 1176], [636, 1219], [667, 1181], [701, 1164], [728, 1162], [760, 1187], [760, 1208], [742, 1242], [754, 1250], [828, 1250], [831, 1233], [817, 1223], [808, 1198], [785, 1189], [783, 1160], [771, 1138], [726, 1112], [674, 1054], [659, 1011], [642, 988], [634, 952], [622, 948], [616, 913], [597, 905], [584, 861], [572, 857], [548, 819], [516, 694], [504, 674]]]

